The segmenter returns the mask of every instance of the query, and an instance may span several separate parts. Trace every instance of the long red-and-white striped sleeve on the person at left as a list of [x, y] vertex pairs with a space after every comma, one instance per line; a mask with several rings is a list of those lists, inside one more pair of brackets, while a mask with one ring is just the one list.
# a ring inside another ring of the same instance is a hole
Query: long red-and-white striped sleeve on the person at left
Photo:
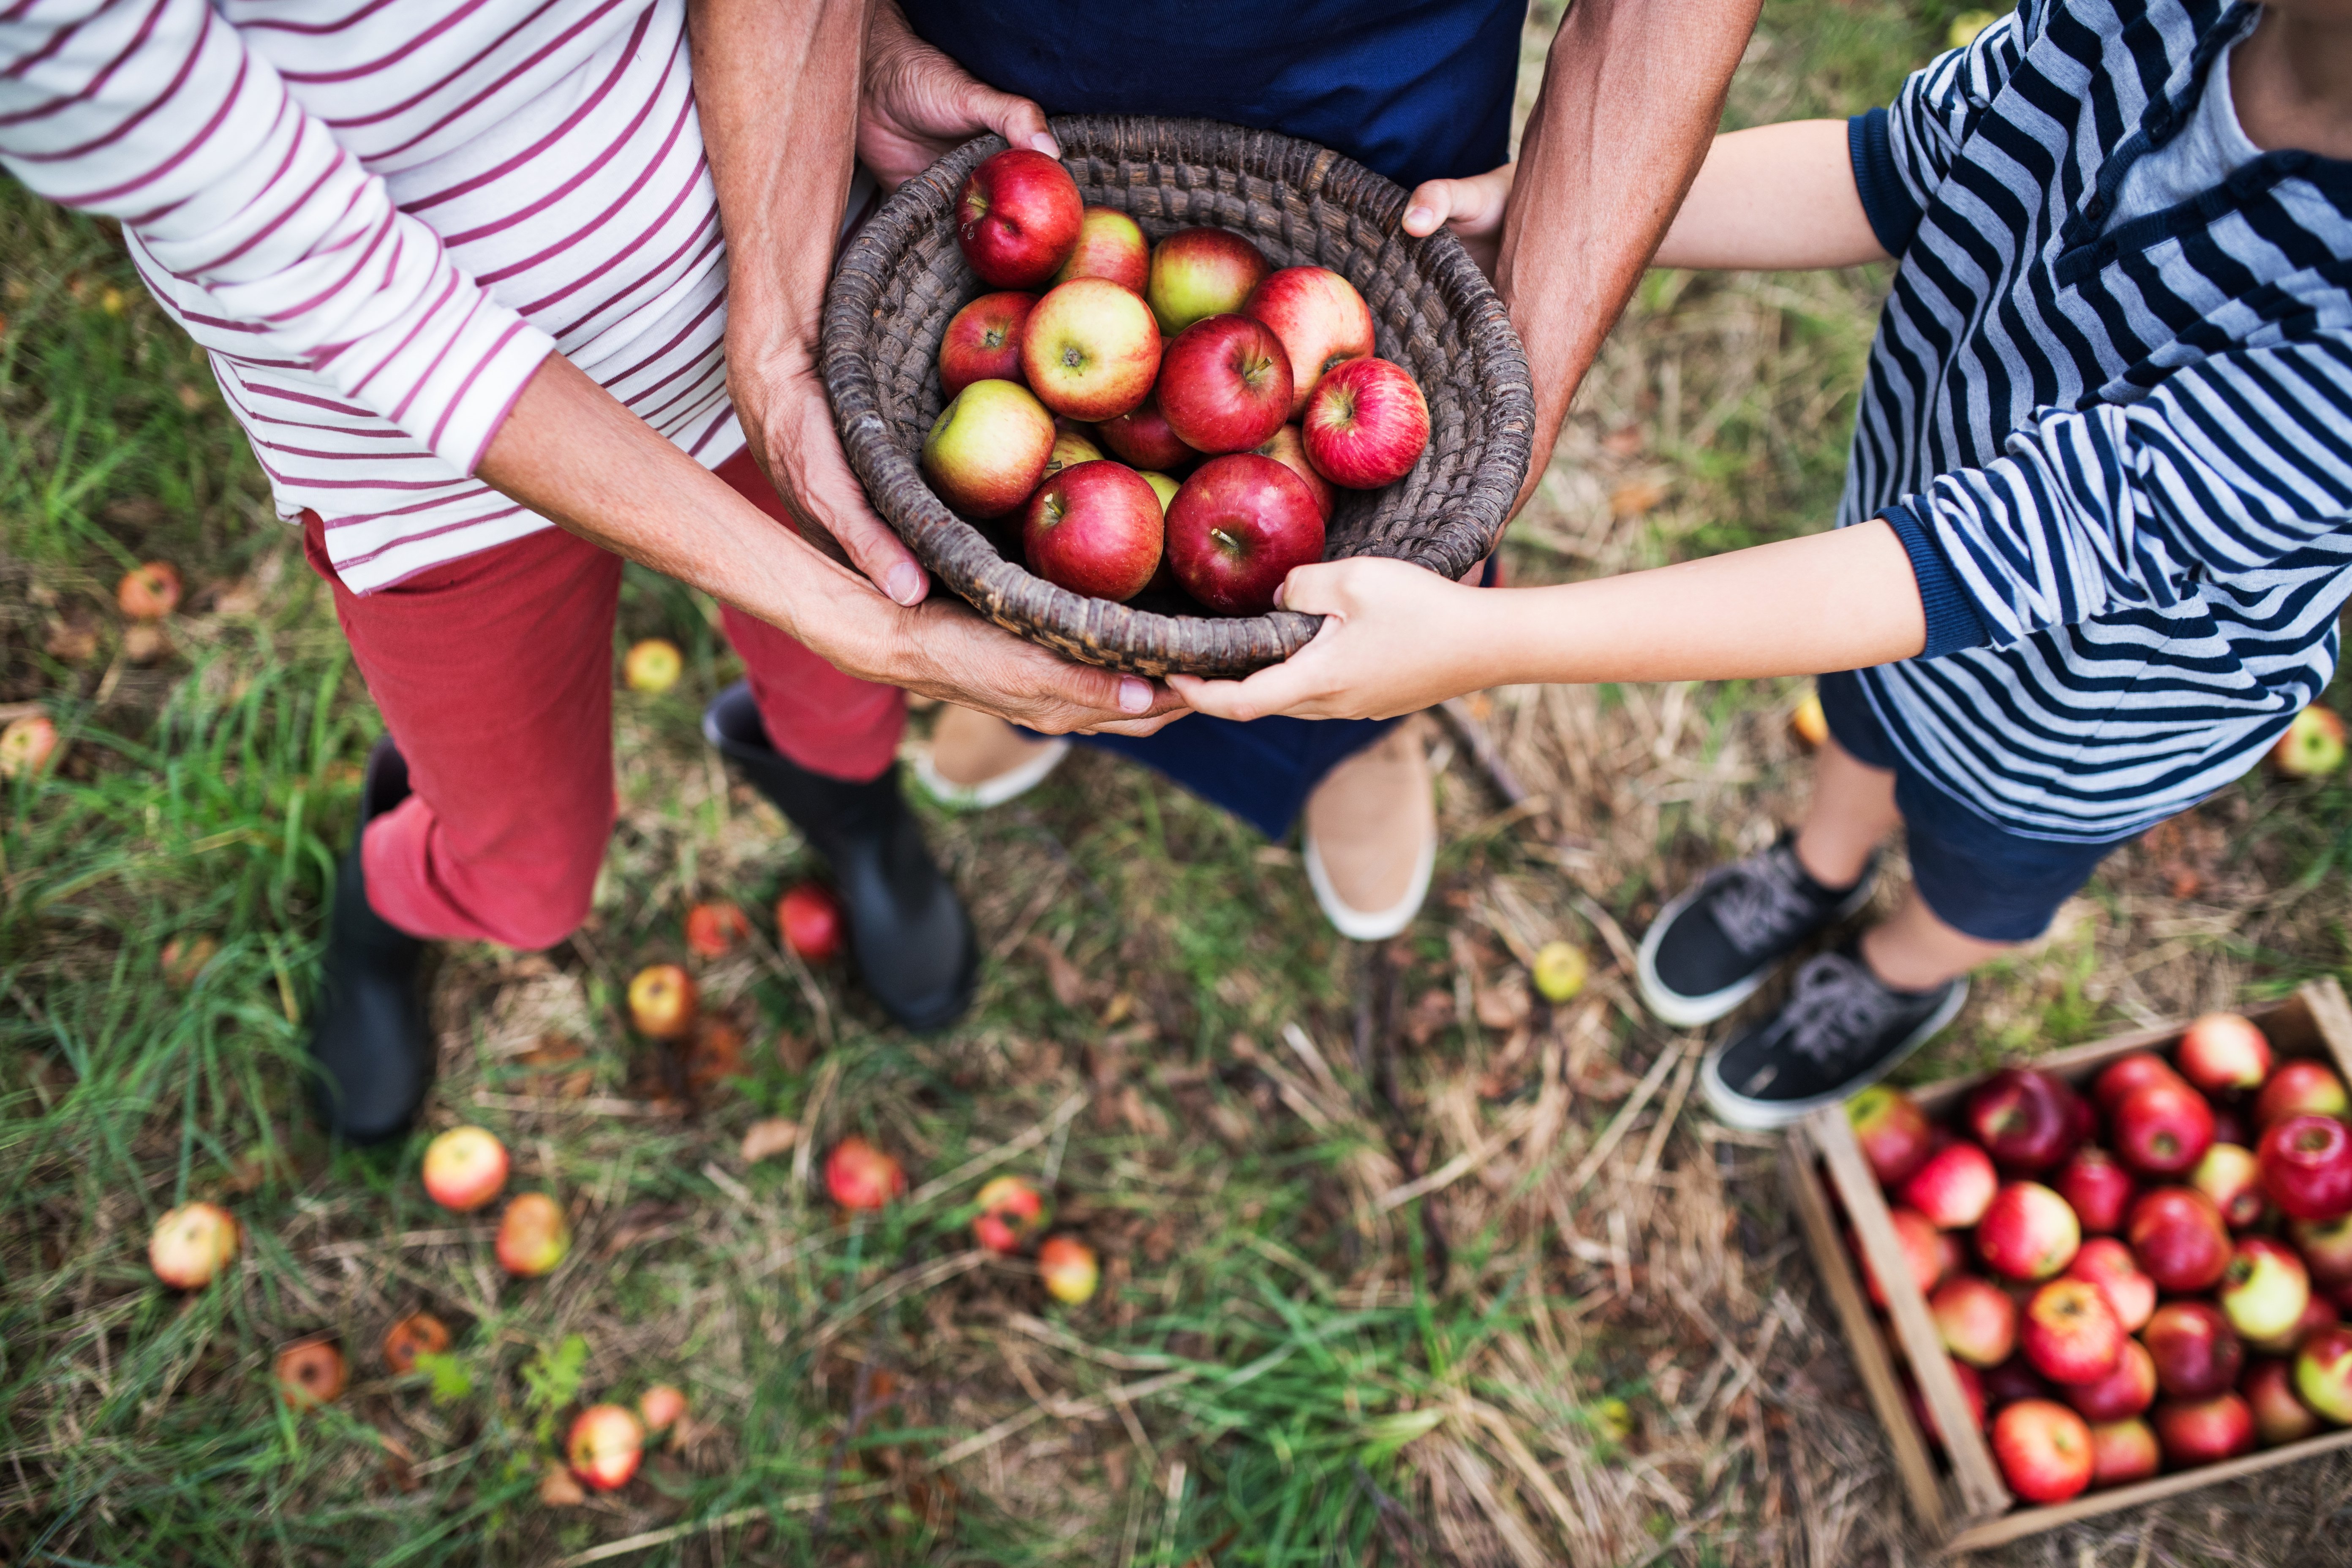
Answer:
[[0, 5], [0, 165], [473, 473], [555, 341], [496, 303], [207, 0]]

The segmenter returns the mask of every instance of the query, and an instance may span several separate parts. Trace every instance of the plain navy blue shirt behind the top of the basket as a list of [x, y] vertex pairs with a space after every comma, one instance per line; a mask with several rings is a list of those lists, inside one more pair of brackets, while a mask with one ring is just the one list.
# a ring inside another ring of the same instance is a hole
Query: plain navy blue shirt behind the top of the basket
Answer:
[[903, 0], [915, 33], [1049, 115], [1197, 115], [1399, 186], [1510, 155], [1526, 0]]

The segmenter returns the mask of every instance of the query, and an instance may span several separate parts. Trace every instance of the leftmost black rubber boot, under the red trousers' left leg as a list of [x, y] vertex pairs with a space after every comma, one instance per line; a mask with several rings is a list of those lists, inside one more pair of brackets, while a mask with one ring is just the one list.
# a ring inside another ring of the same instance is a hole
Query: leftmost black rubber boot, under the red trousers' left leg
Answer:
[[433, 1086], [433, 1032], [416, 987], [426, 945], [369, 907], [360, 865], [367, 825], [407, 797], [409, 764], [388, 738], [376, 741], [360, 783], [360, 830], [334, 882], [327, 976], [310, 1032], [318, 1114], [346, 1143], [400, 1138]]

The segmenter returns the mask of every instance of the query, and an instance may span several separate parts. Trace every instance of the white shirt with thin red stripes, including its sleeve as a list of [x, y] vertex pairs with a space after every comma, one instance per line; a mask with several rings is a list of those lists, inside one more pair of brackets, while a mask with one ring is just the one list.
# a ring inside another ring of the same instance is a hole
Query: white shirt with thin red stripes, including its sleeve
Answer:
[[550, 527], [473, 477], [564, 353], [741, 451], [684, 0], [0, 0], [0, 162], [122, 221], [355, 592]]

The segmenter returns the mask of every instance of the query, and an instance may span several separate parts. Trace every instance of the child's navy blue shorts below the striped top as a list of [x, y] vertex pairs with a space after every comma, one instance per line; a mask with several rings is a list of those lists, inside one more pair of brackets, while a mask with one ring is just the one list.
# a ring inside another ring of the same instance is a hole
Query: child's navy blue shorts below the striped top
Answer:
[[[1896, 811], [1910, 846], [1912, 886], [1943, 924], [1980, 943], [2030, 943], [2058, 905], [2082, 891], [2117, 844], [2070, 844], [2009, 832], [1919, 778], [1886, 741], [1851, 672], [1823, 675], [1820, 710], [1830, 733], [1867, 766], [1896, 776]], [[2138, 837], [2138, 835], [2133, 835]]]

